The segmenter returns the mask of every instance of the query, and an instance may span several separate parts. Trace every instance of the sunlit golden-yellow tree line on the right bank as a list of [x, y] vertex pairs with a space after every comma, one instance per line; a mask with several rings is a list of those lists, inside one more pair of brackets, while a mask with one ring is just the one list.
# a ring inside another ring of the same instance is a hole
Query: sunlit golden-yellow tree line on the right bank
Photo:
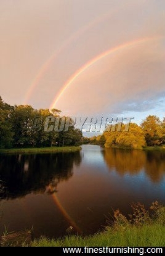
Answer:
[[109, 125], [102, 135], [84, 138], [84, 143], [107, 148], [111, 146], [128, 148], [161, 146], [165, 144], [165, 118], [160, 121], [156, 115], [149, 115], [140, 125], [130, 123], [128, 132], [125, 132], [125, 124], [122, 124], [120, 132], [117, 127], [114, 129], [113, 125]]

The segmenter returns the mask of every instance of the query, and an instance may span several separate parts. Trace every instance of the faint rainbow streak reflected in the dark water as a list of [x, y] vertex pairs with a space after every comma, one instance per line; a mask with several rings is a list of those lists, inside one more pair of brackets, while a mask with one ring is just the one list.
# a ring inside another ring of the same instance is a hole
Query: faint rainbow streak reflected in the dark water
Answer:
[[57, 205], [57, 207], [59, 208], [59, 210], [61, 211], [61, 213], [64, 215], [64, 217], [66, 218], [66, 220], [68, 220], [68, 223], [74, 228], [74, 230], [78, 233], [81, 233], [80, 228], [78, 227], [78, 225], [75, 223], [75, 221], [71, 218], [71, 216], [66, 212], [66, 210], [64, 209], [64, 207], [62, 206], [61, 202], [59, 201], [57, 195], [54, 193], [52, 194], [52, 199], [55, 202], [55, 204]]

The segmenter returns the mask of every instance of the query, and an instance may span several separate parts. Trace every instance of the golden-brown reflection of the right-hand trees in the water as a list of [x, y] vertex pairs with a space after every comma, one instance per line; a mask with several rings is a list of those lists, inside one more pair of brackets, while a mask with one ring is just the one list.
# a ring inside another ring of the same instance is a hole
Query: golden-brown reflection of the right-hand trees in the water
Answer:
[[165, 175], [165, 153], [161, 151], [106, 148], [101, 153], [108, 169], [117, 171], [121, 176], [136, 175], [143, 170], [152, 182], [160, 182]]

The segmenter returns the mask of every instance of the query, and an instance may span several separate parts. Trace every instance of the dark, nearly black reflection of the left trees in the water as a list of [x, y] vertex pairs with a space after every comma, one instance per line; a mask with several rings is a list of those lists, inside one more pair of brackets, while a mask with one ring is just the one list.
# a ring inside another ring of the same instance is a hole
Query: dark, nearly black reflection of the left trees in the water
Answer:
[[59, 182], [73, 175], [73, 166], [81, 163], [80, 152], [0, 155], [0, 179], [7, 187], [5, 197], [16, 198], [33, 193], [57, 191]]

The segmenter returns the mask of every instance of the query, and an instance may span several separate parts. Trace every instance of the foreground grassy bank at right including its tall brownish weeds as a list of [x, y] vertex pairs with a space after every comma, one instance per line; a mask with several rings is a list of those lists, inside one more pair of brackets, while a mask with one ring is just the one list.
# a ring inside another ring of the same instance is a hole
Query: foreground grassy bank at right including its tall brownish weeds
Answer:
[[132, 209], [129, 219], [115, 211], [113, 226], [107, 226], [104, 232], [57, 240], [41, 237], [31, 246], [165, 246], [165, 207], [152, 203], [152, 214], [140, 203], [133, 204]]

